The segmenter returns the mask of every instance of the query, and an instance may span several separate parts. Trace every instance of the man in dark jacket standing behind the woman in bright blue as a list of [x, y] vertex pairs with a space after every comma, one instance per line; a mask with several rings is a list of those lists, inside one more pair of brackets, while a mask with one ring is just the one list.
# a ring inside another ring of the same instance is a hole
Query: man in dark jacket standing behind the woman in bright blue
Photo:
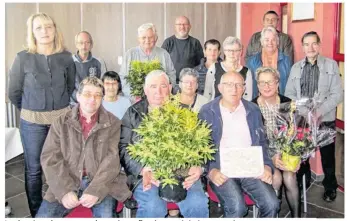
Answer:
[[[267, 27], [273, 27], [277, 28], [279, 22], [278, 14], [275, 11], [268, 11], [263, 16], [263, 28]], [[280, 32], [277, 30], [278, 37], [279, 37], [279, 51], [283, 52], [285, 55], [287, 55], [292, 61], [294, 61], [294, 51], [293, 51], [293, 43], [290, 39], [289, 35]], [[260, 43], [260, 37], [261, 32], [256, 32], [252, 35], [251, 39], [249, 40], [245, 61], [247, 62], [248, 58], [252, 55], [255, 55], [259, 53], [262, 49], [261, 43]]]

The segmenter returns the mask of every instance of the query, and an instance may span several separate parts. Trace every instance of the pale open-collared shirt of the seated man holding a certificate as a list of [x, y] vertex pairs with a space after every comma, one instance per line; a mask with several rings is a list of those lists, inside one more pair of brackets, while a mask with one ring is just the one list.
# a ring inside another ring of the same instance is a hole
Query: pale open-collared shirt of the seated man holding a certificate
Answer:
[[242, 102], [240, 101], [234, 112], [230, 112], [220, 103], [219, 106], [223, 120], [220, 148], [252, 146], [251, 134], [246, 119], [246, 109]]

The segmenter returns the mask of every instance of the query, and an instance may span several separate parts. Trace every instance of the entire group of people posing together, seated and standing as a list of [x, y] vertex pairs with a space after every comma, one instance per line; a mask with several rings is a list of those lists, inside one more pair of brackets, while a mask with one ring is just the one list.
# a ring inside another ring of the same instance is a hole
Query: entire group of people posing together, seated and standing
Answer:
[[[199, 112], [213, 128], [217, 151], [207, 167], [192, 167], [183, 186], [185, 200], [177, 203], [182, 216], [208, 217], [202, 177], [218, 196], [224, 217], [247, 213], [242, 193], [259, 208], [259, 217], [276, 217], [281, 186], [292, 217], [300, 216], [296, 172], [288, 171], [275, 151], [271, 133], [275, 116], [270, 106], [312, 98], [323, 101], [317, 111], [335, 129], [336, 107], [343, 99], [337, 63], [319, 54], [320, 38], [307, 32], [301, 42], [305, 58], [293, 65], [290, 37], [276, 30], [276, 12], [264, 14], [264, 28], [255, 33], [241, 65], [240, 39], [227, 37], [221, 45], [210, 39], [202, 48], [189, 35], [190, 21], [175, 19], [175, 34], [157, 47], [152, 23], [138, 28], [137, 47], [129, 49], [119, 75], [92, 56], [93, 39], [82, 31], [75, 37], [77, 53], [64, 47], [52, 17], [37, 13], [27, 21], [27, 48], [17, 54], [9, 72], [8, 96], [20, 110], [24, 148], [25, 189], [32, 217], [64, 217], [82, 205], [94, 217], [114, 217], [116, 201], [137, 201], [137, 217], [165, 217], [166, 202], [158, 195], [159, 181], [151, 168], [130, 158], [127, 146], [138, 141], [134, 131], [145, 114], [180, 93], [181, 105]], [[221, 47], [223, 49], [221, 49]], [[224, 59], [220, 57], [224, 52]], [[163, 70], [145, 79], [145, 96], [137, 102], [126, 81], [130, 62], [158, 59]], [[221, 172], [220, 150], [233, 146], [262, 148], [264, 173], [254, 178], [228, 178]], [[321, 149], [325, 174], [323, 199], [336, 198], [335, 144]], [[306, 162], [308, 164], [308, 162]], [[308, 164], [309, 165], [309, 164]], [[296, 170], [300, 169], [300, 165]], [[48, 190], [42, 198], [42, 175]], [[126, 175], [137, 183], [131, 191]], [[177, 211], [171, 211], [171, 216]]]

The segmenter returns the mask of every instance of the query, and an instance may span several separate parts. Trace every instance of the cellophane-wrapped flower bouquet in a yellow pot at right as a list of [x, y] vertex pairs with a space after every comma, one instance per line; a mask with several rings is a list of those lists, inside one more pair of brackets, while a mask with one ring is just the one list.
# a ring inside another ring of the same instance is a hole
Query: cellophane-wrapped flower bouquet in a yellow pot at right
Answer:
[[289, 171], [295, 171], [301, 160], [313, 155], [317, 148], [334, 142], [336, 130], [321, 123], [319, 106], [315, 96], [282, 103], [279, 109], [270, 108], [276, 118], [270, 142]]

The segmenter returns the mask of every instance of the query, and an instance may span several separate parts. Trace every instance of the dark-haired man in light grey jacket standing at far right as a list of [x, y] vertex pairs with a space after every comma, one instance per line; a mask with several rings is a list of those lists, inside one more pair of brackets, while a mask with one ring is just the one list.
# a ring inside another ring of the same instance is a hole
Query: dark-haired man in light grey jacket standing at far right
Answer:
[[[317, 32], [310, 31], [301, 39], [305, 58], [295, 63], [290, 71], [285, 96], [299, 100], [318, 95], [321, 102], [316, 114], [324, 126], [335, 130], [336, 107], [343, 100], [342, 81], [336, 61], [319, 54], [321, 42]], [[335, 141], [320, 148], [324, 172], [323, 199], [336, 198]], [[309, 164], [307, 164], [309, 167]], [[307, 170], [310, 170], [308, 168]], [[300, 171], [299, 171], [300, 172]]]

